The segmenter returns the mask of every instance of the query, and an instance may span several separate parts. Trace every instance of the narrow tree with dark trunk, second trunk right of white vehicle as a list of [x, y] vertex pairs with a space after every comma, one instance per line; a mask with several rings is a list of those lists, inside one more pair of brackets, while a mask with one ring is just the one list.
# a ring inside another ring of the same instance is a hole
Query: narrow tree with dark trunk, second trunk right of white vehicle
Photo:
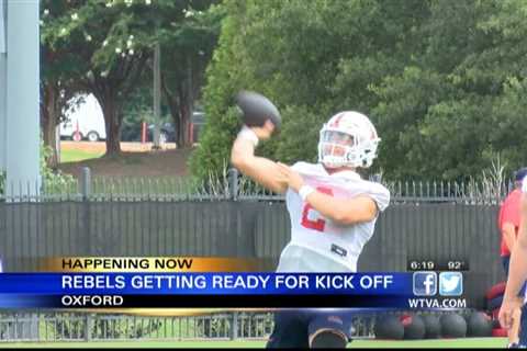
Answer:
[[178, 147], [190, 146], [190, 117], [224, 16], [223, 8], [216, 2], [181, 1], [182, 9], [159, 19], [165, 21], [159, 34], [161, 89], [176, 126]]

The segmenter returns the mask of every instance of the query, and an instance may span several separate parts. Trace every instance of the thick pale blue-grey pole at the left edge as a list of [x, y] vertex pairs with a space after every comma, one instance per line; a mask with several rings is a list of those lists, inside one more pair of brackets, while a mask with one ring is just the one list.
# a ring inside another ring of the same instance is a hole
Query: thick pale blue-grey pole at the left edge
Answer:
[[35, 195], [41, 186], [38, 5], [37, 0], [8, 0], [2, 11], [7, 42], [5, 54], [0, 55], [5, 55], [2, 84], [7, 89], [1, 93], [7, 95], [5, 138], [1, 139], [7, 150], [8, 196]]

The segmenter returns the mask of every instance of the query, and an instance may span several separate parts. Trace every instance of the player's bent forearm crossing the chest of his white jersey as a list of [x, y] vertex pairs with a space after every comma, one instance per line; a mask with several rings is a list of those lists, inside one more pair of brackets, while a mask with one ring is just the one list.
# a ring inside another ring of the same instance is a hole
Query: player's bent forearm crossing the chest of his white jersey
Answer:
[[378, 213], [377, 203], [367, 195], [354, 199], [336, 199], [311, 186], [304, 186], [302, 177], [289, 166], [278, 163], [279, 171], [287, 179], [288, 186], [324, 217], [341, 225], [372, 220]]

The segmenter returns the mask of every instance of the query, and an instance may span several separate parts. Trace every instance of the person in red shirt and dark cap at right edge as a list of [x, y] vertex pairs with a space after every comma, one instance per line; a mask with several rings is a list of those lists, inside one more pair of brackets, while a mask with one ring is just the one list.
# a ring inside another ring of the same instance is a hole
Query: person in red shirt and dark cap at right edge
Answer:
[[[500, 208], [498, 227], [502, 235], [501, 257], [505, 276], [509, 275], [511, 252], [518, 244], [518, 234], [523, 226], [520, 220], [520, 202], [523, 180], [527, 177], [527, 168], [519, 169], [515, 174], [515, 189], [507, 195]], [[519, 291], [519, 295], [525, 294], [525, 286]], [[512, 310], [509, 316], [511, 326], [508, 329], [508, 347], [515, 348], [518, 344], [527, 344], [524, 340], [527, 337], [527, 310], [522, 308], [522, 304]], [[524, 327], [524, 328], [522, 328]], [[522, 336], [520, 336], [522, 333]], [[522, 339], [522, 340], [520, 340]]]

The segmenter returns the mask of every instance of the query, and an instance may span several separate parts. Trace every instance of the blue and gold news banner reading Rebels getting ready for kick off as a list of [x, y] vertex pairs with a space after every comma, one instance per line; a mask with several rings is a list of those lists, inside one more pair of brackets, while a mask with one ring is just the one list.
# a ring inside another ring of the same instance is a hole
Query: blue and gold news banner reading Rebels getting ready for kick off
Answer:
[[261, 267], [227, 258], [54, 258], [43, 260], [40, 272], [0, 274], [0, 308], [468, 307], [460, 272], [274, 273]]

